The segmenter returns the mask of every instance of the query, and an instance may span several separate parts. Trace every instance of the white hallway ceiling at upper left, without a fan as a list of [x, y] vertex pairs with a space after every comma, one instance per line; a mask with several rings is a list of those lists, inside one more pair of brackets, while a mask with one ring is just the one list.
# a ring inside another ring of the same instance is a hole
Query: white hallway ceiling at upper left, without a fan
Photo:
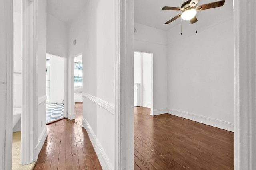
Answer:
[[47, 0], [47, 12], [68, 24], [80, 13], [87, 0]]

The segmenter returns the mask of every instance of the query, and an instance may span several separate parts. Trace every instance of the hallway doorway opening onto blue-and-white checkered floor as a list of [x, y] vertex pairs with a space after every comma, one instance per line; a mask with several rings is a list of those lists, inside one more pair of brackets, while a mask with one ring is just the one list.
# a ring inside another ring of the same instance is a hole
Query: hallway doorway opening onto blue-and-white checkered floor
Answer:
[[63, 118], [65, 59], [46, 54], [46, 124]]

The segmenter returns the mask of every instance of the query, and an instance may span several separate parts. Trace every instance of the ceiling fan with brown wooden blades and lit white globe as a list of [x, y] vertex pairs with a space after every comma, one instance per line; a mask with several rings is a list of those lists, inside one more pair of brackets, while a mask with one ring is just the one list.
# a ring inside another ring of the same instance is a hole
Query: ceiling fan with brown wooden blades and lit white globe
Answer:
[[198, 21], [196, 18], [197, 11], [223, 6], [225, 3], [225, 0], [197, 6], [198, 2], [199, 2], [199, 0], [188, 0], [188, 1], [184, 2], [180, 8], [165, 6], [164, 8], [162, 8], [162, 10], [182, 11], [181, 14], [178, 14], [174, 18], [170, 19], [165, 24], [171, 23], [172, 21], [176, 20], [180, 16], [183, 20], [190, 20], [190, 22], [192, 24], [196, 23]]

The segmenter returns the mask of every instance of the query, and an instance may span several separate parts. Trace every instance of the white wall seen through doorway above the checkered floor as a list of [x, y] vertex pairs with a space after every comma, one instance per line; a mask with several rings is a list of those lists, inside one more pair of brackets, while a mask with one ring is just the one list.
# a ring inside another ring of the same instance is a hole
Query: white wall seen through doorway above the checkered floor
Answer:
[[64, 100], [64, 58], [46, 54], [50, 59], [50, 103]]

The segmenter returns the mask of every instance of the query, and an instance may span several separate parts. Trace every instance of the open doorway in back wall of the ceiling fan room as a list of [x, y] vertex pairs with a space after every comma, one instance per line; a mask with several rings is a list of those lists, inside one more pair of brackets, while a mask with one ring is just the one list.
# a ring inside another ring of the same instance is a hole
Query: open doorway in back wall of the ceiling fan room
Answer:
[[153, 110], [153, 54], [134, 51], [134, 107]]

